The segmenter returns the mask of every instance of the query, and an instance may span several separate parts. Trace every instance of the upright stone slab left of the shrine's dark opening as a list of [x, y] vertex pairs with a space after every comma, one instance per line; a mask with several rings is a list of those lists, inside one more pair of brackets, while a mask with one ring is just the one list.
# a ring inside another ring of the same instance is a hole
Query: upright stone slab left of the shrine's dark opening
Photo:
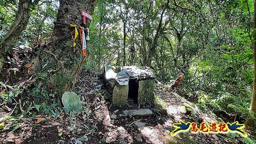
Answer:
[[125, 105], [127, 103], [128, 90], [128, 85], [115, 85], [112, 94], [112, 103], [116, 106]]

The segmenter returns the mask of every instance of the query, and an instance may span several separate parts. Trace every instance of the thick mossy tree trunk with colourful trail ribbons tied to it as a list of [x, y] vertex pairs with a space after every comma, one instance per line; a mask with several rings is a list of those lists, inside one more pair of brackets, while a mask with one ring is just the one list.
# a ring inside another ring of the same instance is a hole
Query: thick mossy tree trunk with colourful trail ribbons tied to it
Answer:
[[[93, 14], [97, 0], [66, 0], [60, 1], [57, 21], [67, 24], [75, 24], [79, 28], [82, 23], [81, 11], [85, 10]], [[89, 28], [90, 21], [87, 20]], [[78, 29], [79, 30], [79, 29]], [[76, 51], [73, 52], [74, 27], [55, 25], [52, 45], [42, 49], [38, 58], [33, 62], [38, 76], [44, 80], [47, 85], [42, 85], [43, 89], [53, 89], [53, 93], [62, 94], [64, 91], [72, 88], [76, 82], [76, 76], [81, 67], [82, 51], [80, 38], [76, 40]], [[60, 39], [61, 38], [61, 39]], [[40, 63], [40, 64], [39, 64]], [[42, 82], [41, 82], [42, 83]]]

